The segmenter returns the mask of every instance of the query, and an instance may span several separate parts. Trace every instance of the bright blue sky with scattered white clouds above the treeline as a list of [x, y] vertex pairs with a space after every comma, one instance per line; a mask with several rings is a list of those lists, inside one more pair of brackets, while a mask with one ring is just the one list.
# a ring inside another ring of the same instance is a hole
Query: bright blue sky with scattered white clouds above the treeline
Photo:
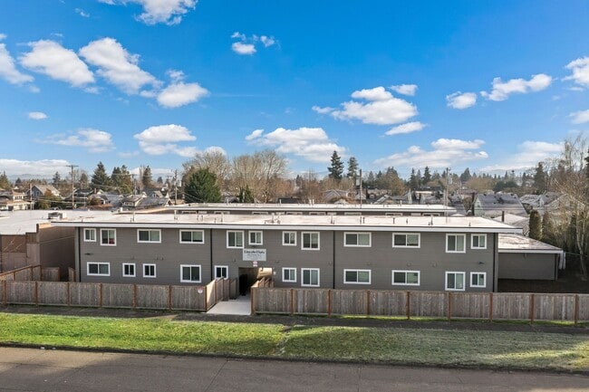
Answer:
[[0, 170], [272, 148], [517, 172], [589, 129], [589, 3], [5, 0]]

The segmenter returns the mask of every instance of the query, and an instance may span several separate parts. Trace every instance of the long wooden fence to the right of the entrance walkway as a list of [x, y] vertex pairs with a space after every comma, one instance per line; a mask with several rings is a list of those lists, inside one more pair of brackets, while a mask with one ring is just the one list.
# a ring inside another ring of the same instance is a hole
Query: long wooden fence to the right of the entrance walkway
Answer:
[[589, 294], [397, 292], [252, 287], [252, 314], [589, 321]]

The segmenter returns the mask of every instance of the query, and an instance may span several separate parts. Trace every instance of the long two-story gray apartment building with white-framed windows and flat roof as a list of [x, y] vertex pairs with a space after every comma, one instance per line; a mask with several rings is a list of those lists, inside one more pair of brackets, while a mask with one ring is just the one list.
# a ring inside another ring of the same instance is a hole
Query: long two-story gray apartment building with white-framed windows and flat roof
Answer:
[[[482, 217], [112, 214], [75, 228], [79, 282], [495, 292], [500, 234]], [[245, 282], [247, 277], [249, 282]]]

